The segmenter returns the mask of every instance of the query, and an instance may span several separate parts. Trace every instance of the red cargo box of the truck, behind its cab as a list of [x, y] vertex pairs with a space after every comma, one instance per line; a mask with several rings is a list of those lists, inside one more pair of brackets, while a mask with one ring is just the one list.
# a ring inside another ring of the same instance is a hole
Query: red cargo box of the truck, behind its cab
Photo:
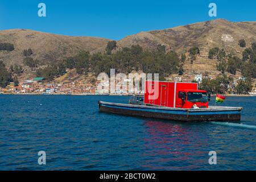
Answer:
[[144, 86], [144, 104], [166, 107], [179, 106], [180, 90], [197, 90], [197, 83], [146, 81]]

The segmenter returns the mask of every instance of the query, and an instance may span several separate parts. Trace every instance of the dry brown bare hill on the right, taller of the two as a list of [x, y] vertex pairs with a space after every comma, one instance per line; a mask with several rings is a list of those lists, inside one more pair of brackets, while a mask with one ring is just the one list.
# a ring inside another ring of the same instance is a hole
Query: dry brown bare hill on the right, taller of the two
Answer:
[[[139, 32], [119, 40], [117, 46], [122, 48], [139, 44], [144, 49], [155, 49], [158, 44], [162, 44], [167, 50], [179, 53], [198, 46], [201, 55], [207, 56], [209, 49], [213, 47], [241, 54], [243, 48], [238, 45], [240, 39], [245, 39], [247, 47], [256, 41], [256, 22], [229, 22], [225, 19], [216, 19], [164, 30]], [[102, 47], [97, 51], [104, 49], [105, 47]]]

